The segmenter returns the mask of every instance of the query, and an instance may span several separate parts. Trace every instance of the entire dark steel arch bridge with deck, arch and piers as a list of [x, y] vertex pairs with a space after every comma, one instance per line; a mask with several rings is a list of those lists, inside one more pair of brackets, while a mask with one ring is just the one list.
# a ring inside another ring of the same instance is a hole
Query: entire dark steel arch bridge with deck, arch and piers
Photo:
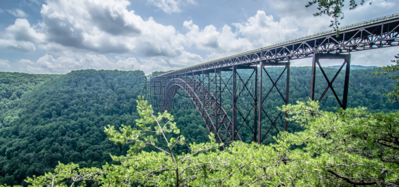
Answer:
[[[200, 112], [208, 131], [215, 134], [218, 142], [228, 144], [246, 139], [260, 144], [272, 129], [287, 131], [287, 121], [284, 121], [283, 129], [277, 128], [282, 112], [271, 115], [265, 103], [272, 90], [281, 97], [283, 104], [289, 103], [291, 60], [312, 57], [310, 98], [321, 101], [331, 90], [339, 106], [346, 109], [352, 52], [398, 45], [399, 14], [393, 14], [341, 27], [338, 37], [334, 30], [325, 31], [165, 73], [152, 77], [151, 82], [154, 92], [162, 96], [162, 110], [170, 111], [173, 98], [180, 94], [178, 90], [184, 90]], [[344, 62], [330, 80], [320, 59], [342, 59]], [[273, 78], [266, 69], [268, 66], [282, 66], [281, 74]], [[345, 66], [341, 100], [333, 83]], [[316, 81], [315, 77], [318, 67], [327, 87], [317, 99], [316, 82], [321, 82]], [[263, 81], [271, 83], [269, 90], [265, 90]], [[268, 91], [263, 93], [263, 90]], [[238, 100], [242, 97], [249, 100], [245, 109], [238, 107]], [[226, 100], [230, 105], [227, 108], [224, 107]], [[249, 129], [250, 134], [240, 133], [243, 128]]]

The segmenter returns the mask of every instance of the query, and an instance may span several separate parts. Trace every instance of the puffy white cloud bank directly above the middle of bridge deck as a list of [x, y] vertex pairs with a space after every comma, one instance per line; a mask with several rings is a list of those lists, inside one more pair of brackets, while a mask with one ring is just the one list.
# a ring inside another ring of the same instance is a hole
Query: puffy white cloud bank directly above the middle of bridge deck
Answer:
[[[188, 30], [185, 34], [186, 45], [207, 51], [206, 59], [212, 60], [305, 36], [316, 18], [308, 15], [308, 20], [299, 19], [301, 18], [287, 14], [280, 20], [274, 20], [273, 15], [258, 10], [246, 21], [232, 23], [235, 29], [228, 25], [221, 28], [207, 25], [200, 29], [192, 20], [185, 21], [183, 26]], [[321, 31], [320, 28], [323, 27], [314, 27], [312, 33]]]

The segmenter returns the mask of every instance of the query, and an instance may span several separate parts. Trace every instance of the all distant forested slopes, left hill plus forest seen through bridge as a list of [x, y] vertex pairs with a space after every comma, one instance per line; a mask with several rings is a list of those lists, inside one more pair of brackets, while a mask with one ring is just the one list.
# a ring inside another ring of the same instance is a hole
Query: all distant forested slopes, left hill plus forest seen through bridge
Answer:
[[[282, 70], [278, 67], [267, 69], [272, 77], [278, 76]], [[295, 103], [297, 100], [306, 101], [309, 97], [310, 69], [310, 67], [291, 67], [290, 103]], [[326, 68], [325, 71], [328, 75], [332, 75], [337, 70]], [[375, 70], [351, 70], [349, 107], [366, 106], [370, 112], [398, 110], [397, 104], [387, 103], [387, 98], [382, 96], [383, 93], [393, 89], [395, 81], [387, 79], [385, 75], [373, 76], [372, 72]], [[1, 102], [12, 100], [11, 98], [17, 101], [14, 105], [10, 105], [11, 107], [4, 108], [1, 114], [18, 112], [11, 115], [13, 121], [9, 121], [10, 117], [3, 115], [0, 118], [3, 124], [0, 127], [0, 184], [24, 184], [23, 180], [27, 176], [53, 171], [58, 161], [65, 164], [73, 162], [80, 167], [101, 167], [106, 162], [112, 162], [110, 154], [119, 156], [128, 150], [128, 147], [117, 146], [110, 142], [103, 132], [104, 126], [120, 127], [121, 124], [135, 126], [135, 120], [139, 118], [136, 100], [142, 93], [141, 82], [144, 72], [79, 70], [61, 76], [34, 75], [36, 82], [28, 80], [29, 77], [34, 77], [30, 74], [8, 74], [12, 77], [0, 77], [4, 85], [0, 93], [7, 93], [1, 95]], [[267, 77], [264, 76], [266, 80]], [[318, 72], [316, 98], [320, 97], [327, 85], [322, 76]], [[40, 82], [38, 77], [41, 77], [41, 82], [48, 81], [36, 88]], [[339, 95], [342, 93], [342, 83], [341, 73], [334, 83]], [[263, 92], [267, 93], [271, 83], [264, 81], [263, 84], [265, 89]], [[278, 85], [284, 86], [285, 83], [280, 81]], [[17, 86], [22, 90], [25, 89], [25, 92], [33, 91], [21, 97], [18, 95]], [[330, 92], [322, 100], [321, 106], [324, 110], [334, 110], [333, 108], [337, 106], [337, 101]], [[15, 99], [13, 95], [20, 99]], [[229, 96], [226, 97], [226, 100], [228, 99]], [[241, 102], [250, 102], [248, 99], [243, 96]], [[155, 99], [150, 100], [150, 102], [155, 101]], [[190, 99], [181, 97], [177, 97], [176, 101], [191, 102]], [[282, 104], [280, 95], [273, 91], [265, 101], [264, 108], [274, 110], [275, 112], [271, 111], [270, 115], [276, 115], [278, 112], [276, 107]], [[199, 112], [173, 110], [171, 113], [175, 116], [181, 134], [189, 143], [208, 141], [209, 133]], [[267, 123], [265, 117], [264, 120], [263, 122]], [[282, 122], [278, 123], [278, 128], [281, 127]], [[294, 123], [289, 126], [290, 132], [300, 130], [303, 130], [302, 127]], [[248, 129], [244, 128], [244, 131]], [[272, 133], [275, 135], [275, 132]], [[245, 142], [248, 140], [244, 139]], [[271, 137], [267, 137], [263, 144], [272, 141]]]

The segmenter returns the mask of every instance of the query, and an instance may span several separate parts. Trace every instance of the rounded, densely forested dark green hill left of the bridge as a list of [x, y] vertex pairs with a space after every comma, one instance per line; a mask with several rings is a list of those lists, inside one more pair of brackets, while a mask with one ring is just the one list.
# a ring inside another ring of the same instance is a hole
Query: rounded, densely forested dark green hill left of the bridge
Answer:
[[19, 113], [0, 118], [10, 124], [0, 128], [0, 184], [27, 186], [26, 177], [52, 172], [58, 161], [101, 168], [113, 162], [110, 154], [126, 153], [129, 148], [114, 145], [103, 129], [134, 125], [141, 76], [142, 71], [72, 71], [24, 94], [11, 109]]

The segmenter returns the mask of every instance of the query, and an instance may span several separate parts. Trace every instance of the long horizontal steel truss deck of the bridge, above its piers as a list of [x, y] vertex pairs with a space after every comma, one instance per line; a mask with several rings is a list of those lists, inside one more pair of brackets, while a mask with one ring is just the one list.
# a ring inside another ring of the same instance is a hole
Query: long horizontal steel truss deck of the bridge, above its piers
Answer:
[[152, 79], [238, 64], [259, 64], [260, 61], [277, 63], [309, 58], [314, 53], [349, 53], [398, 46], [399, 14], [341, 27], [341, 30], [338, 37], [333, 30], [321, 32], [165, 73]]

